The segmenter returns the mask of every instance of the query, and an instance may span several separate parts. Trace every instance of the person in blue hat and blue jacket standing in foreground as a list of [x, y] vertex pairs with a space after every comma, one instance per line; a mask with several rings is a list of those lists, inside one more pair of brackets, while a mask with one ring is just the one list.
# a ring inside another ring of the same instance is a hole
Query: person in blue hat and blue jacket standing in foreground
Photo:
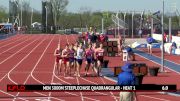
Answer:
[[[132, 72], [132, 64], [126, 63], [122, 66], [122, 71], [118, 75], [118, 85], [122, 86], [132, 86], [135, 85], [135, 75]], [[135, 92], [120, 92], [120, 100], [119, 101], [133, 101], [136, 100]]]

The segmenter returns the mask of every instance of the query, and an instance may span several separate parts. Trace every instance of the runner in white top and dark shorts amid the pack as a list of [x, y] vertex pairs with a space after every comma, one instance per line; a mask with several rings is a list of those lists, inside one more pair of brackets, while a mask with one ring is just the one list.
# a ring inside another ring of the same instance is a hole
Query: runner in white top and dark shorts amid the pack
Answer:
[[76, 64], [77, 64], [76, 75], [79, 77], [80, 77], [80, 69], [82, 66], [83, 56], [84, 56], [84, 50], [82, 48], [82, 43], [80, 43], [77, 49], [77, 56], [76, 56]]

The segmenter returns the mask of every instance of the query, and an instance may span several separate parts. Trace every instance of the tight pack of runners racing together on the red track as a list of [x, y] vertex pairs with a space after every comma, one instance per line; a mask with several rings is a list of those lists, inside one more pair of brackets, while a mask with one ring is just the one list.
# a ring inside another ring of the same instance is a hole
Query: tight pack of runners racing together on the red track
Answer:
[[96, 43], [90, 41], [86, 44], [76, 42], [75, 44], [66, 44], [62, 49], [58, 44], [54, 52], [56, 57], [56, 70], [60, 74], [64, 70], [64, 76], [80, 76], [83, 61], [85, 61], [85, 76], [88, 75], [89, 68], [92, 68], [93, 75], [102, 76], [101, 67], [104, 60], [103, 44], [97, 47]]

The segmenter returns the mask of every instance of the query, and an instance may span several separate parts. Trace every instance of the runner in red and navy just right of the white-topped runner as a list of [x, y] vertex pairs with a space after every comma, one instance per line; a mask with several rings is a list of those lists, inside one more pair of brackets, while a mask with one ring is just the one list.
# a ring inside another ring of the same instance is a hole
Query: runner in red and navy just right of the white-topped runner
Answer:
[[86, 57], [85, 76], [87, 76], [87, 73], [88, 73], [90, 67], [92, 67], [93, 72], [95, 71], [94, 67], [93, 67], [93, 63], [92, 63], [93, 62], [92, 60], [94, 57], [94, 51], [92, 49], [91, 44], [89, 44], [88, 49], [86, 49], [85, 57]]

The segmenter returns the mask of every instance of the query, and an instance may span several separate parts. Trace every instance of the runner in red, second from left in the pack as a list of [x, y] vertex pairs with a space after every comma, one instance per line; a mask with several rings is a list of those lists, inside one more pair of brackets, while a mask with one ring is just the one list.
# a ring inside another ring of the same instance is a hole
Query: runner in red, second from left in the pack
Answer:
[[69, 45], [66, 44], [65, 49], [62, 51], [63, 63], [64, 63], [64, 76], [69, 74]]

